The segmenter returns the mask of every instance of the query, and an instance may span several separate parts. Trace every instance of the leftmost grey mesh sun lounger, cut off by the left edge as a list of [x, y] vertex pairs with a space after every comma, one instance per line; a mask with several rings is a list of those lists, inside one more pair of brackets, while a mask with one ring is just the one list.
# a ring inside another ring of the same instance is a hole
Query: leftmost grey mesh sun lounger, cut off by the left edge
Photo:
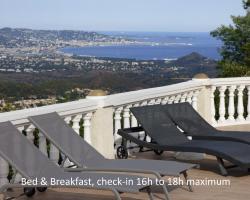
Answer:
[[[50, 180], [55, 178], [58, 180], [74, 180], [77, 177], [81, 179], [91, 179], [92, 185], [76, 186], [77, 188], [88, 188], [88, 189], [99, 189], [99, 190], [110, 190], [114, 193], [116, 199], [120, 199], [119, 193], [136, 193], [142, 190], [147, 190], [150, 199], [153, 199], [153, 195], [150, 191], [150, 185], [138, 185], [138, 178], [145, 178], [144, 176], [134, 176], [127, 174], [114, 174], [114, 173], [103, 173], [93, 171], [81, 171], [78, 169], [74, 171], [64, 171], [64, 169], [57, 166], [53, 161], [49, 160], [38, 148], [35, 147], [27, 138], [21, 134], [14, 125], [10, 122], [0, 123], [0, 156], [5, 159], [10, 165], [12, 165], [22, 176], [26, 179], [40, 180], [45, 178]], [[84, 169], [82, 169], [84, 170]], [[108, 186], [98, 185], [97, 180], [122, 180], [122, 185], [119, 186]], [[147, 177], [148, 178], [148, 177]], [[126, 185], [126, 180], [132, 180], [133, 185]], [[153, 181], [154, 183], [154, 181]], [[49, 183], [48, 183], [49, 184]], [[46, 185], [47, 187], [65, 187], [62, 185]], [[0, 188], [1, 193], [5, 193], [7, 188], [25, 187], [21, 184], [8, 184]], [[32, 186], [31, 186], [32, 187]], [[34, 187], [44, 187], [42, 184], [38, 184]], [[67, 186], [66, 186], [67, 187]], [[71, 186], [74, 187], [74, 186]]]

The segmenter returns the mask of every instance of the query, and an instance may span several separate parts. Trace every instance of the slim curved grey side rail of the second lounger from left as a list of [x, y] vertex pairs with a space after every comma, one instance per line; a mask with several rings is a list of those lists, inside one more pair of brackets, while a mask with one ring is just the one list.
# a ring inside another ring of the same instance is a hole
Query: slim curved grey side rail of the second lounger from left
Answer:
[[150, 174], [154, 175], [157, 179], [161, 179], [161, 174], [153, 170], [135, 170], [135, 169], [105, 169], [105, 168], [71, 168], [65, 169], [68, 172], [128, 172], [128, 173], [139, 173], [139, 174]]

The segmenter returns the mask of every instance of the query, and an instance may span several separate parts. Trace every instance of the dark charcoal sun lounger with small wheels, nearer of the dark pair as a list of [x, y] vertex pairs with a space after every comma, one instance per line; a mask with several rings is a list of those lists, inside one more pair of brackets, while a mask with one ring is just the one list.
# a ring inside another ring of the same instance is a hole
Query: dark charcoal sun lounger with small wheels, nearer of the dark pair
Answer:
[[[163, 105], [130, 109], [141, 127], [119, 130], [125, 139], [154, 150], [206, 153], [217, 157], [221, 173], [227, 174], [223, 159], [244, 169], [250, 168], [250, 146], [232, 141], [189, 140], [166, 115]], [[132, 137], [144, 130], [154, 141], [149, 143]], [[230, 166], [232, 167], [232, 166]]]

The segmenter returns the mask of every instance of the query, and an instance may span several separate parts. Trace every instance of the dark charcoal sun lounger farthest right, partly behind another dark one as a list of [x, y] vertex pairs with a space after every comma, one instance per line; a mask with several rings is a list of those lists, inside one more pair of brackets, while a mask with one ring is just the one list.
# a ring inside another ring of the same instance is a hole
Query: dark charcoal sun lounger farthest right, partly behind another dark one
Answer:
[[250, 132], [217, 130], [189, 103], [168, 104], [164, 110], [185, 134], [195, 140], [229, 140], [250, 144]]

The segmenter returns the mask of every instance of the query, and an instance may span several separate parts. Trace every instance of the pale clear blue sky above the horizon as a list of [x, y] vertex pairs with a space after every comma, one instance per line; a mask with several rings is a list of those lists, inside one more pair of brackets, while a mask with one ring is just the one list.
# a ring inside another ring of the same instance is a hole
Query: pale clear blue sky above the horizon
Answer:
[[241, 0], [0, 0], [0, 27], [207, 32], [244, 13]]

